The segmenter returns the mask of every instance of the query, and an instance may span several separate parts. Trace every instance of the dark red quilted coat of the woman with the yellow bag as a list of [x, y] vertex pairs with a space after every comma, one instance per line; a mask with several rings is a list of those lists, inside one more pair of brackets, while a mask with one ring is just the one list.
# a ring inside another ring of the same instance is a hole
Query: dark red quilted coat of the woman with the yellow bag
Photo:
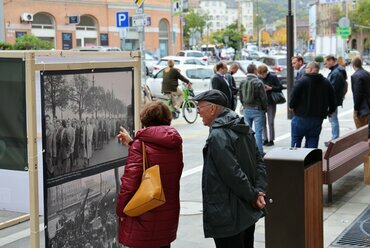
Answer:
[[[149, 163], [160, 166], [166, 203], [139, 217], [129, 217], [123, 213], [123, 209], [141, 182], [141, 141], [145, 142]], [[129, 149], [117, 199], [120, 243], [130, 248], [159, 248], [176, 239], [182, 168], [182, 139], [176, 129], [170, 126], [153, 126], [137, 132]]]

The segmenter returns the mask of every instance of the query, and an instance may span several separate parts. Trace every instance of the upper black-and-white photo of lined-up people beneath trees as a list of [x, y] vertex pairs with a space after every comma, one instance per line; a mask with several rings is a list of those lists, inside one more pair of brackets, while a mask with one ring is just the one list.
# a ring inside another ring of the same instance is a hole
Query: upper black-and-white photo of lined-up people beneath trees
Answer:
[[131, 70], [68, 73], [42, 77], [48, 178], [126, 157], [115, 137], [133, 131]]

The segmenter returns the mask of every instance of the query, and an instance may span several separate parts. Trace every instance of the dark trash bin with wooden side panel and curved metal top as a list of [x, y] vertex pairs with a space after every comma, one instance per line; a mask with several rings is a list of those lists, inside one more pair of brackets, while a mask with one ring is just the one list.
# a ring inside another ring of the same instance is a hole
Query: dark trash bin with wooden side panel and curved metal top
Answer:
[[322, 151], [275, 148], [265, 163], [266, 248], [322, 248]]

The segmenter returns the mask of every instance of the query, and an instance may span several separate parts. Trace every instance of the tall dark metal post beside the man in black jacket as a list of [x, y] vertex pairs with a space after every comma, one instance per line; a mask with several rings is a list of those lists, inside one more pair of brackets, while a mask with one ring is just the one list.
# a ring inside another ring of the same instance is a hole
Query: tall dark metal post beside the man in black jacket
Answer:
[[[291, 63], [291, 58], [294, 56], [294, 16], [292, 15], [292, 0], [288, 1], [288, 15], [286, 16], [287, 26], [287, 91], [288, 102], [290, 100], [290, 93], [294, 84], [294, 71]], [[289, 108], [289, 104], [287, 104]], [[292, 118], [292, 113], [288, 110], [288, 119]]]

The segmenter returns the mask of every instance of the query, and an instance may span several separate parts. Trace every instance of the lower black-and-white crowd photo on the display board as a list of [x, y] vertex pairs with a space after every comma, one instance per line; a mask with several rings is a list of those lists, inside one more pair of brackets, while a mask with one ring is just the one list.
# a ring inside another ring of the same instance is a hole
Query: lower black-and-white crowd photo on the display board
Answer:
[[121, 247], [115, 215], [118, 170], [48, 188], [46, 247]]

